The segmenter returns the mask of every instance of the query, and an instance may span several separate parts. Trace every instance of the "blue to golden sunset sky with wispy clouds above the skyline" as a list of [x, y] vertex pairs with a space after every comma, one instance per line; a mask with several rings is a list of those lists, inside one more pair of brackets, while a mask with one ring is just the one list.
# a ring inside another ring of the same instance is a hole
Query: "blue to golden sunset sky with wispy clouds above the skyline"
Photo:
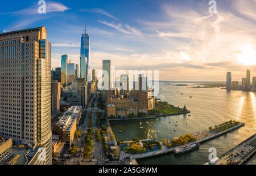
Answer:
[[[117, 70], [159, 70], [160, 80], [225, 81], [256, 76], [256, 0], [3, 1], [0, 33], [46, 26], [52, 67], [62, 54], [79, 63], [80, 37], [90, 35], [91, 67], [111, 59]], [[15, 6], [14, 6], [15, 3]]]

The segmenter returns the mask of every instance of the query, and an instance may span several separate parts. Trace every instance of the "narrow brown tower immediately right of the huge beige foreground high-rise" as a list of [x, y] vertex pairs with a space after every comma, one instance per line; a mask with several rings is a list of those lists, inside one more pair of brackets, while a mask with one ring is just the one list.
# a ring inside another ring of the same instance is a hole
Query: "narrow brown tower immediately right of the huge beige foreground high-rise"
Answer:
[[52, 114], [60, 113], [60, 83], [52, 81]]

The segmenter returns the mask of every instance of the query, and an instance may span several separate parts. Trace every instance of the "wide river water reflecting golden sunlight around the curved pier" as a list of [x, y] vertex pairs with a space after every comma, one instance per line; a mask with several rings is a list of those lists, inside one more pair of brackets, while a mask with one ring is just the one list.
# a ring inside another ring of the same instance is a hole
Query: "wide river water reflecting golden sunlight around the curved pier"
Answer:
[[[139, 164], [204, 164], [209, 161], [208, 149], [210, 147], [215, 147], [217, 156], [220, 156], [255, 134], [255, 92], [228, 92], [221, 88], [192, 88], [197, 86], [193, 83], [185, 83], [188, 86], [175, 86], [176, 84], [179, 83], [171, 85], [159, 82], [160, 90], [156, 97], [181, 108], [186, 105], [187, 109], [191, 111], [190, 117], [188, 117], [188, 114], [182, 114], [160, 117], [158, 121], [156, 119], [144, 119], [141, 121], [144, 127], [142, 129], [139, 128], [139, 120], [110, 121], [115, 138], [117, 140], [131, 140], [134, 137], [139, 139], [155, 138], [156, 140], [172, 139], [187, 133], [193, 134], [208, 130], [208, 127], [214, 127], [222, 122], [229, 121], [229, 119], [245, 122], [245, 126], [207, 141], [195, 151], [180, 155], [169, 153], [144, 158], [138, 160]], [[192, 96], [192, 98], [189, 96]], [[149, 122], [149, 124], [147, 125], [146, 122]], [[123, 131], [122, 134], [118, 133], [120, 130]], [[256, 156], [251, 158], [247, 164], [256, 164]]]

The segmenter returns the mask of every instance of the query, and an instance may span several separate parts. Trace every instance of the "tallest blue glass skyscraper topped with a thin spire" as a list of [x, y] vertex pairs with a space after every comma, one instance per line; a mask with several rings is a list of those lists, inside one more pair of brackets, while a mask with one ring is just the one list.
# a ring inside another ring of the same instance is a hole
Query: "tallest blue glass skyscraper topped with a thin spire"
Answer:
[[[90, 75], [90, 36], [86, 34], [86, 21], [84, 27], [84, 34], [81, 37], [81, 49], [80, 56], [84, 56], [86, 58], [86, 81], [91, 81]], [[81, 63], [81, 62], [80, 62]], [[80, 67], [81, 69], [81, 67]]]

